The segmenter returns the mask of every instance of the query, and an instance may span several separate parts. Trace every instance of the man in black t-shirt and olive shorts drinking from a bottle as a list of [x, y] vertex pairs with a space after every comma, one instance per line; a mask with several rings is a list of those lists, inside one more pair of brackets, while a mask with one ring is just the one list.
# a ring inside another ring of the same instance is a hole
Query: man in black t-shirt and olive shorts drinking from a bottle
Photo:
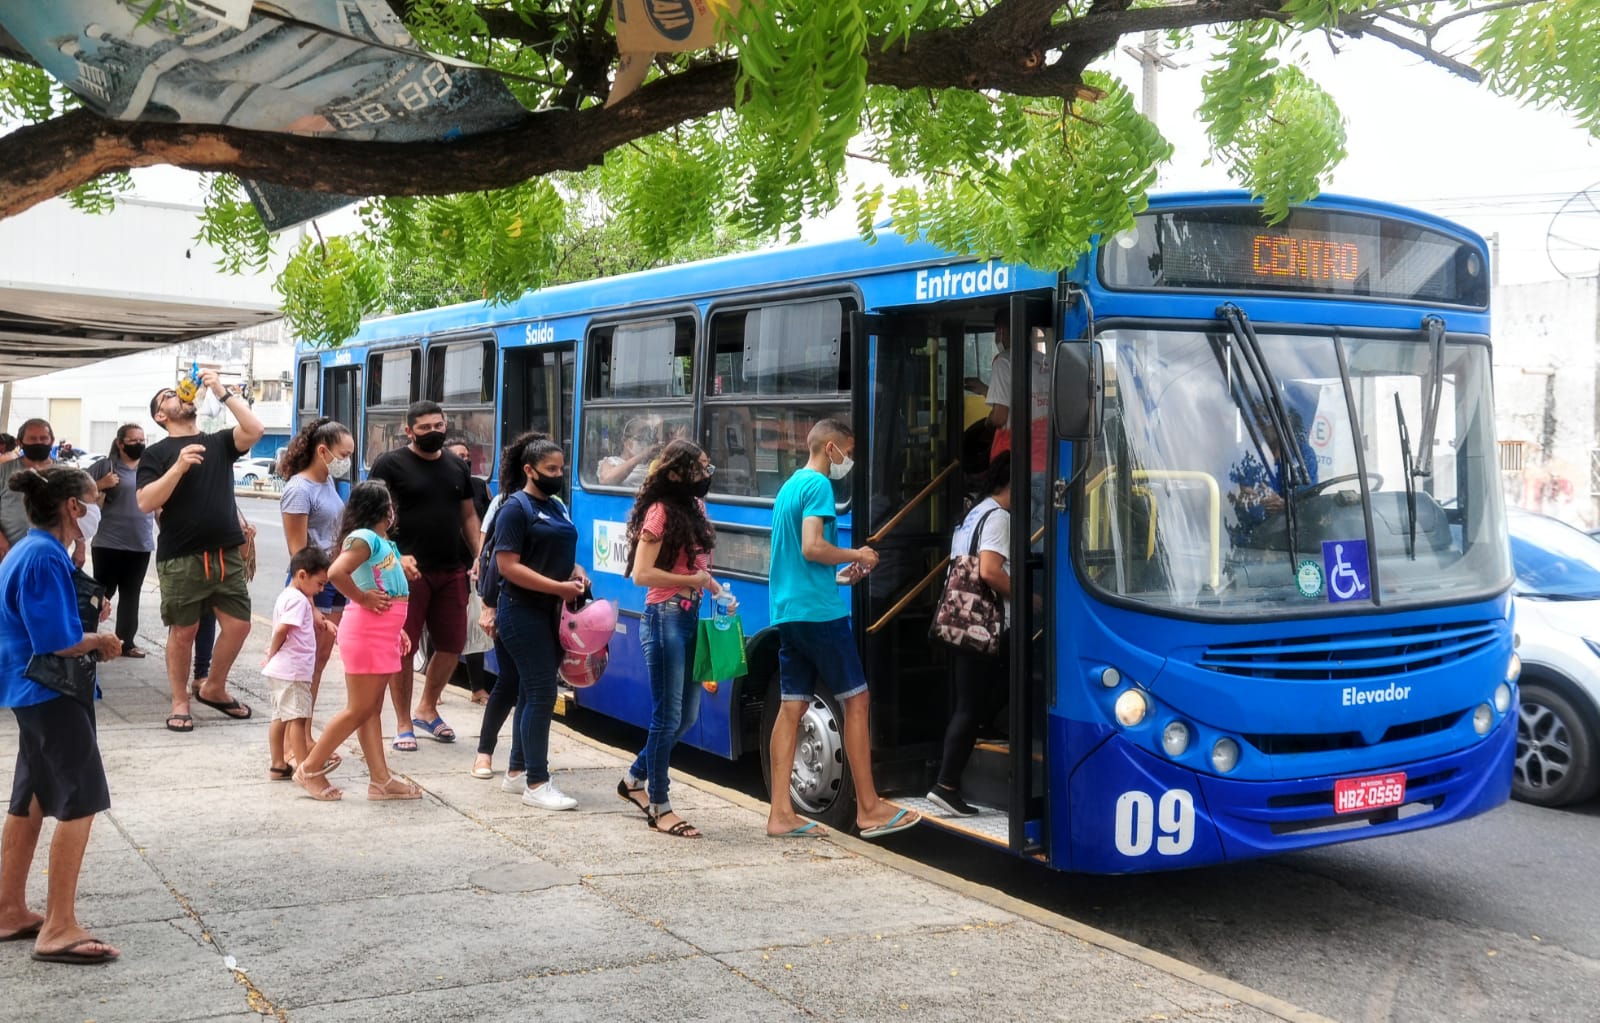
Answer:
[[[256, 413], [227, 391], [214, 370], [200, 373], [200, 386], [214, 394], [238, 424], [202, 434], [195, 403], [163, 387], [150, 399], [150, 418], [166, 431], [139, 459], [139, 511], [160, 512], [155, 540], [155, 576], [162, 584], [162, 624], [166, 626], [166, 682], [173, 712], [166, 727], [194, 732], [189, 700], [229, 717], [250, 717], [250, 708], [227, 692], [227, 672], [250, 636], [250, 591], [245, 589], [245, 533], [234, 504], [234, 463], [261, 440]], [[211, 672], [190, 695], [189, 663], [200, 616], [216, 613]]]

